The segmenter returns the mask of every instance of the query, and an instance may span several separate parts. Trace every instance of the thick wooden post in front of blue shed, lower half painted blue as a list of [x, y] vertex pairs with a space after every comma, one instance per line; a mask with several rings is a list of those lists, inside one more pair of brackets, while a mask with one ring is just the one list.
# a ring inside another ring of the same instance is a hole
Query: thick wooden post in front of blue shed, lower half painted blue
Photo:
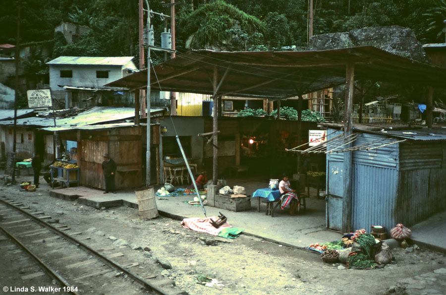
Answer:
[[[350, 135], [353, 132], [352, 109], [353, 94], [355, 83], [354, 63], [347, 63], [345, 71], [345, 109], [344, 109], [344, 135]], [[344, 148], [351, 147], [351, 143]], [[352, 152], [344, 152], [344, 174], [343, 174], [343, 195], [342, 195], [342, 231], [351, 232], [351, 203], [352, 203]]]

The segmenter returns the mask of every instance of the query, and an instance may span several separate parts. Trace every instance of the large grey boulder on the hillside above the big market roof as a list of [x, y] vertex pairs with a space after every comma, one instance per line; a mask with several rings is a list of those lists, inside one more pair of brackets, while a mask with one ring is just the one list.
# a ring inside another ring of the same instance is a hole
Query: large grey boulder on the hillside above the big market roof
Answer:
[[416, 39], [413, 31], [396, 25], [316, 35], [310, 39], [306, 50], [327, 50], [357, 46], [374, 46], [404, 58], [430, 62], [422, 44]]

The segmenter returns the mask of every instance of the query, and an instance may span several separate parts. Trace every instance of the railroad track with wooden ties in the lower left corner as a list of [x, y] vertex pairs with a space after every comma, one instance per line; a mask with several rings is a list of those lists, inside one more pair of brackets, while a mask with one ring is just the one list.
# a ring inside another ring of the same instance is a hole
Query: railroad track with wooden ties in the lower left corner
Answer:
[[137, 266], [137, 262], [119, 265], [112, 258], [119, 259], [122, 253], [107, 256], [99, 253], [100, 250], [94, 250], [82, 241], [88, 237], [74, 237], [82, 235], [71, 232], [66, 225], [54, 223], [56, 226], [53, 226], [51, 216], [45, 216], [44, 212], [33, 211], [0, 196], [0, 216], [0, 232], [7, 237], [0, 236], [0, 249], [11, 247], [2, 243], [13, 240], [33, 257], [41, 270], [29, 268], [29, 273], [22, 271], [22, 279], [30, 286], [34, 284], [36, 290], [48, 287], [42, 282], [51, 278], [56, 283], [52, 287], [60, 288], [60, 293], [187, 294], [174, 288], [172, 280], [160, 275], [152, 273], [141, 278], [132, 273], [129, 269]]

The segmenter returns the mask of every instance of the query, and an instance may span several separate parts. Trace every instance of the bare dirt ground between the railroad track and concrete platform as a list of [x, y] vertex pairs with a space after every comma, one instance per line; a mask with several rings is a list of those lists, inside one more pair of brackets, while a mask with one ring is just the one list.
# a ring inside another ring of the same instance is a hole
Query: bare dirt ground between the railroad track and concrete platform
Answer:
[[[442, 253], [396, 248], [392, 250], [396, 260], [385, 268], [352, 270], [339, 263], [324, 263], [316, 252], [253, 236], [223, 239], [183, 229], [178, 220], [140, 220], [138, 210], [132, 208], [98, 210], [56, 199], [49, 196], [49, 188], [41, 184], [36, 192], [25, 192], [18, 184], [1, 186], [0, 195], [44, 211], [73, 231], [99, 231], [92, 235], [97, 245], [107, 247], [116, 238], [125, 240], [128, 246], [124, 247], [135, 248], [134, 259], [155, 265], [189, 294], [445, 294], [446, 257]], [[157, 265], [157, 259], [168, 261], [171, 269]], [[215, 284], [205, 286], [200, 282], [205, 277], [215, 279]]]

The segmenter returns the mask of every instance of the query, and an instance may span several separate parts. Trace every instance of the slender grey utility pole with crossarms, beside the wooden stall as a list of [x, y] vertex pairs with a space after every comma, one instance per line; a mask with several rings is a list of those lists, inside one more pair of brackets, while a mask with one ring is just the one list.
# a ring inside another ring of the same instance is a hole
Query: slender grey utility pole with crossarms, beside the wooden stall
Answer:
[[[149, 8], [149, 1], [146, 1], [146, 5], [147, 5], [147, 91], [146, 91], [146, 106], [147, 106], [147, 150], [146, 150], [146, 185], [149, 186], [150, 185], [150, 135], [151, 135], [151, 130], [150, 130], [150, 68], [152, 65], [151, 59], [150, 59], [150, 50], [156, 50], [156, 51], [164, 51], [164, 52], [168, 52], [171, 53], [172, 50], [171, 49], [167, 49], [167, 48], [160, 48], [160, 47], [155, 47], [154, 46], [154, 42], [153, 42], [153, 38], [151, 38], [151, 27], [150, 27], [150, 18], [152, 17], [153, 14], [158, 14], [160, 15], [162, 18], [163, 17], [168, 17], [167, 15], [163, 14], [163, 13], [158, 13], [158, 12], [154, 12], [152, 10], [150, 10]], [[153, 32], [153, 30], [152, 30]]]

